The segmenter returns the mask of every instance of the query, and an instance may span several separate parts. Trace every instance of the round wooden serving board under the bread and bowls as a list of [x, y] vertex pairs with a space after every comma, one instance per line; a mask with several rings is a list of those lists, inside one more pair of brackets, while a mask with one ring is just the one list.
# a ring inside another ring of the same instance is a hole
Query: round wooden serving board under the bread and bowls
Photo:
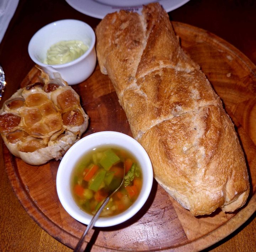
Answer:
[[[217, 210], [209, 216], [194, 217], [154, 181], [151, 195], [137, 215], [118, 226], [91, 230], [83, 249], [199, 251], [229, 235], [256, 209], [256, 66], [215, 35], [187, 24], [172, 24], [182, 48], [201, 66], [236, 125], [250, 175], [249, 201], [235, 213]], [[38, 74], [34, 67], [22, 86], [36, 81]], [[131, 136], [111, 81], [98, 66], [88, 80], [73, 88], [90, 117], [83, 136], [104, 130]], [[11, 185], [28, 214], [55, 239], [74, 248], [86, 226], [70, 217], [58, 200], [55, 182], [59, 161], [28, 165], [6, 147], [4, 157]]]

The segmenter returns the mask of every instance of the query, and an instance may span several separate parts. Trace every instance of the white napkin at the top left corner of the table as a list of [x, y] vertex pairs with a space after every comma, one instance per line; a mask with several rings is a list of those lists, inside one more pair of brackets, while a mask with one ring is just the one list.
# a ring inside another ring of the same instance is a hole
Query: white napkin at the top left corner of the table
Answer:
[[0, 43], [16, 11], [19, 0], [0, 0]]

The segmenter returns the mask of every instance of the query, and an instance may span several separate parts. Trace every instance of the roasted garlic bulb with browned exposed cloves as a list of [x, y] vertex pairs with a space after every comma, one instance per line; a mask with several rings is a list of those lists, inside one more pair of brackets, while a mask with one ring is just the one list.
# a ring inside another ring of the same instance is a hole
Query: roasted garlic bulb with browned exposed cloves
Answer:
[[32, 165], [61, 159], [88, 126], [74, 89], [65, 82], [43, 80], [19, 89], [0, 110], [6, 146]]

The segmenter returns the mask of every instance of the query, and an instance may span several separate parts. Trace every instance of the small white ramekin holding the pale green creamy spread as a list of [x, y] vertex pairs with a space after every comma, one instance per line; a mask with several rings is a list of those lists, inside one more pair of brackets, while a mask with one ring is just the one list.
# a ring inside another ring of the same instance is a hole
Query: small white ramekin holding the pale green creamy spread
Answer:
[[[47, 50], [62, 40], [81, 40], [89, 49], [78, 59], [68, 63], [62, 65], [44, 64]], [[69, 85], [78, 84], [85, 81], [95, 69], [95, 33], [88, 24], [82, 21], [59, 20], [47, 24], [33, 35], [28, 44], [28, 54], [50, 78], [54, 78], [55, 73], [59, 73]]]

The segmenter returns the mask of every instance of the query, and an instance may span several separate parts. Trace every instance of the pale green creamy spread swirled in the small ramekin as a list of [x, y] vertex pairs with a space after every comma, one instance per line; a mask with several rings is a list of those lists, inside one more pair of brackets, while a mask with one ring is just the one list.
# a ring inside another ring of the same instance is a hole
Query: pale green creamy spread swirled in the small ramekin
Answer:
[[52, 45], [44, 64], [61, 65], [79, 58], [88, 50], [88, 46], [80, 40], [64, 40]]

